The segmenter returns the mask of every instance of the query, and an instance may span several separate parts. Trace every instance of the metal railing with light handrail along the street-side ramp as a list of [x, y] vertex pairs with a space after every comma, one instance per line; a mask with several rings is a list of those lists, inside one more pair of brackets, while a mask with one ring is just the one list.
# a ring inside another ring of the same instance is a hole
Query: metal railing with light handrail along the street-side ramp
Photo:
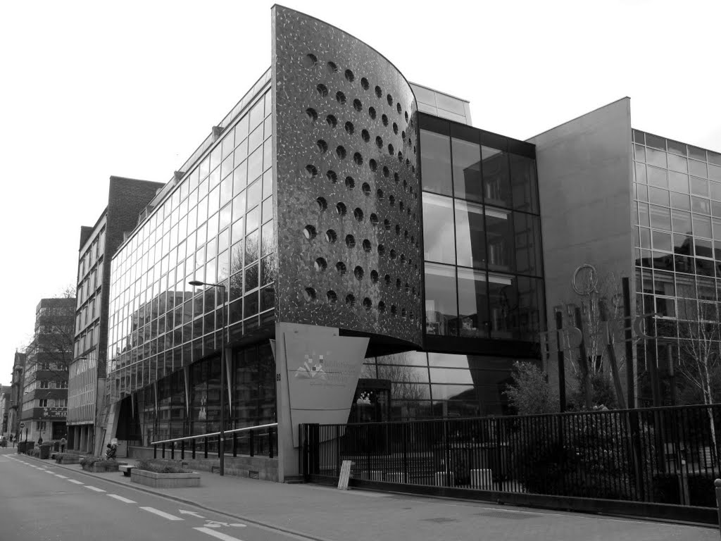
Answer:
[[[278, 449], [278, 431], [273, 430], [273, 428], [276, 427], [278, 427], [278, 423], [267, 423], [265, 425], [245, 426], [244, 428], [226, 430], [224, 433], [226, 439], [225, 454], [229, 454], [227, 441], [231, 439], [231, 449], [234, 457], [237, 457], [238, 454], [247, 454], [255, 457], [257, 454], [259, 456], [267, 455], [268, 458], [273, 458], [275, 456], [274, 449]], [[191, 458], [193, 459], [195, 459], [199, 450], [202, 452], [203, 458], [208, 458], [208, 452], [213, 454], [217, 453], [218, 457], [220, 457], [220, 435], [221, 433], [218, 431], [151, 441], [153, 458], [158, 457], [158, 446], [160, 446], [161, 458], [165, 458], [166, 446], [168, 446], [171, 459], [175, 459], [176, 452], [180, 452], [181, 460], [185, 459], [186, 442], [190, 442], [187, 451], [191, 453]]]

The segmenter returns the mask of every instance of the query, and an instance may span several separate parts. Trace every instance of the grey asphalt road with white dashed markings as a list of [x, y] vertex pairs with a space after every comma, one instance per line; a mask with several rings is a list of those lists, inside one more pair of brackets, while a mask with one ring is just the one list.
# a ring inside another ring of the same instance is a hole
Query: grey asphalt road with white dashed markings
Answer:
[[298, 538], [0, 450], [0, 541]]

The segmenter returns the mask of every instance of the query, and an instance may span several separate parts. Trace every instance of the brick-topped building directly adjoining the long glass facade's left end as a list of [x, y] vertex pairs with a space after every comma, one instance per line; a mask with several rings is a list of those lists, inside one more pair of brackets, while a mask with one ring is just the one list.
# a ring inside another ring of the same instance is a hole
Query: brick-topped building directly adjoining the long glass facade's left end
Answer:
[[[107, 206], [93, 226], [80, 229], [73, 361], [68, 380], [68, 449], [92, 452], [97, 414], [104, 397], [107, 348], [106, 262], [123, 242], [124, 232], [148, 211], [163, 184], [110, 177]], [[102, 438], [99, 439], [102, 441]]]

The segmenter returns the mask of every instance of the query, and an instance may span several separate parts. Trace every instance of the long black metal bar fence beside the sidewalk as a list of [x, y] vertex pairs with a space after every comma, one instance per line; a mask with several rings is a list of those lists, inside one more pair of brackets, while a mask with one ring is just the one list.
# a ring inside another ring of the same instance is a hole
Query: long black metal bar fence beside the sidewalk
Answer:
[[721, 404], [301, 426], [306, 477], [716, 505]]

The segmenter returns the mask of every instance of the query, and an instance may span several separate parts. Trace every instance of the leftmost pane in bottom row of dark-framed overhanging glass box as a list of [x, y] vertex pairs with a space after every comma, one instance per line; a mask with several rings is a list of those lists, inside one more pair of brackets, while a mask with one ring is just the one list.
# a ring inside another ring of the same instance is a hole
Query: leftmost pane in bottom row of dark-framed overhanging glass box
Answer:
[[425, 264], [425, 332], [457, 335], [456, 273], [453, 267]]

